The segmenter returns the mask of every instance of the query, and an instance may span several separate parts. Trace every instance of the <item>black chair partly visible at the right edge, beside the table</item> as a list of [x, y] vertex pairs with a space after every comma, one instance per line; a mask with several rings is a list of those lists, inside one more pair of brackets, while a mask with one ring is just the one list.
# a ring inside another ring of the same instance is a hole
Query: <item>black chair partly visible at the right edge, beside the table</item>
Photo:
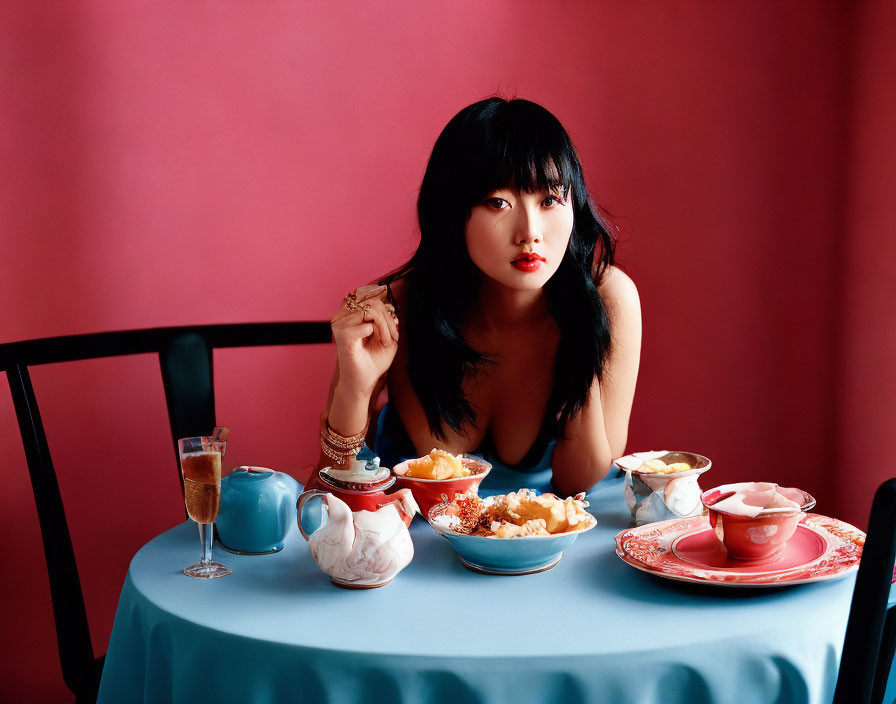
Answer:
[[896, 609], [888, 609], [896, 561], [896, 479], [881, 484], [846, 624], [835, 704], [882, 702], [896, 646]]

